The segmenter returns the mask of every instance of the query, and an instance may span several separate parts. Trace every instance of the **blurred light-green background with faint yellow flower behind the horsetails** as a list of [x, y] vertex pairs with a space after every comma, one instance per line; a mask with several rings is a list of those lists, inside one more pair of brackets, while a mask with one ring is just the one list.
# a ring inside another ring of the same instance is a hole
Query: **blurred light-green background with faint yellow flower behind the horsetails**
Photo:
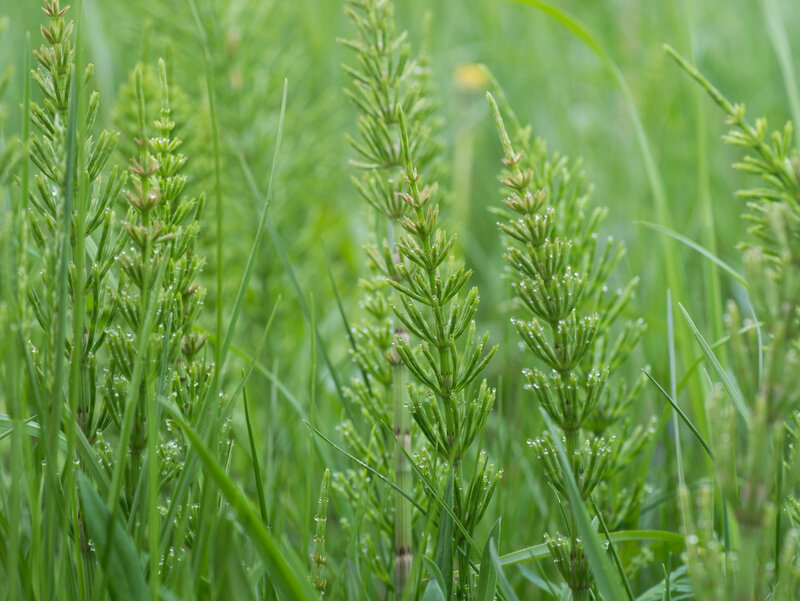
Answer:
[[[538, 467], [526, 445], [540, 431], [540, 417], [530, 398], [520, 394], [523, 362], [508, 323], [509, 286], [501, 281], [501, 244], [489, 211], [501, 198], [496, 179], [501, 149], [484, 98], [489, 81], [478, 65], [485, 65], [501, 82], [520, 120], [529, 121], [534, 135], [546, 138], [551, 150], [583, 157], [587, 180], [595, 184], [595, 201], [609, 207], [603, 233], [628, 245], [620, 281], [635, 274], [641, 277], [630, 310], [641, 314], [649, 329], [627, 369], [638, 371], [649, 364], [660, 381], [668, 379], [666, 238], [636, 223], [658, 222], [659, 217], [631, 115], [607, 66], [575, 35], [520, 3], [403, 0], [397, 4], [399, 27], [409, 30], [415, 47], [426, 49], [430, 57], [439, 112], [446, 123], [449, 168], [440, 182], [445, 194], [442, 221], [458, 232], [458, 252], [475, 271], [473, 281], [483, 301], [478, 321], [501, 344], [501, 360], [487, 371], [499, 393], [486, 445], [505, 469], [490, 513], [502, 515], [505, 524], [517, 525], [504, 529], [501, 552], [505, 552], [539, 543], [546, 520], [536, 516], [554, 509], [548, 509], [550, 492], [542, 490]], [[764, 4], [760, 0], [558, 0], [554, 4], [595, 36], [631, 89], [665, 186], [670, 223], [663, 225], [702, 242], [700, 197], [707, 185], [717, 253], [738, 268], [742, 206], [733, 190], [743, 187], [743, 176], [731, 175], [729, 169], [735, 151], [719, 142], [725, 126], [716, 107], [676, 69], [662, 44], [693, 55], [729, 98], [745, 102], [751, 114], [763, 114], [779, 127], [789, 118], [789, 103]], [[772, 4], [787, 31], [800, 31], [800, 3]], [[249, 356], [273, 306], [280, 302], [249, 397], [265, 454], [262, 465], [273, 531], [288, 537], [296, 548], [307, 548], [322, 473], [326, 467], [348, 465], [346, 458], [315, 440], [302, 425], [302, 420], [310, 421], [336, 438], [342, 407], [321, 352], [329, 355], [341, 382], [355, 371], [329, 268], [354, 322], [359, 317], [356, 283], [364, 274], [361, 246], [374, 221], [349, 181], [348, 159], [353, 153], [344, 132], [353, 131], [355, 111], [341, 91], [346, 85], [340, 68], [346, 50], [336, 38], [352, 31], [342, 3], [197, 0], [194, 15], [190, 4], [181, 1], [84, 0], [83, 10], [83, 40], [96, 65], [95, 82], [103, 97], [100, 123], [114, 124], [114, 100], [130, 95], [126, 86], [137, 62], [152, 65], [158, 57], [166, 58], [170, 80], [181, 89], [175, 115], [187, 123], [184, 152], [195, 177], [191, 185], [206, 190], [213, 204], [212, 135], [197, 19], [207, 32], [223, 152], [224, 202], [224, 231], [215, 232], [211, 213], [206, 213], [200, 241], [200, 252], [207, 259], [202, 277], [209, 290], [202, 319], [209, 330], [220, 302], [213, 285], [217, 270], [224, 270], [226, 311], [244, 270], [269, 183], [283, 83], [288, 80], [285, 131], [269, 209], [279, 241], [264, 239], [234, 350]], [[14, 69], [6, 97], [21, 98], [25, 36], [30, 32], [38, 44], [40, 2], [0, 0], [0, 15], [10, 19], [9, 31], [0, 40], [0, 57], [4, 67]], [[800, 64], [800, 43], [796, 37], [791, 41], [795, 64]], [[20, 120], [20, 111], [12, 108], [5, 131], [20, 131]], [[260, 196], [252, 193], [243, 164], [252, 170]], [[216, 264], [214, 255], [219, 235], [224, 237], [223, 266]], [[278, 248], [285, 250], [300, 296]], [[670, 252], [677, 257], [683, 279], [682, 296], [674, 300], [683, 303], [711, 337], [719, 324], [709, 315], [714, 309], [707, 295], [708, 262], [677, 243], [672, 243]], [[724, 274], [721, 283], [722, 298], [740, 294]], [[318, 344], [301, 299], [319, 331]], [[277, 379], [269, 377], [272, 373]], [[232, 381], [239, 370], [231, 366], [226, 374]], [[660, 416], [663, 410], [662, 399], [646, 394], [638, 405], [638, 421]], [[247, 449], [244, 420], [238, 412], [234, 433], [242, 442], [239, 448]], [[656, 453], [648, 477], [653, 498], [674, 491], [676, 485], [674, 472], [666, 465], [669, 454], [662, 451]], [[254, 496], [245, 464], [243, 456], [237, 459], [235, 454], [231, 472], [236, 476], [238, 470], [236, 479]], [[335, 565], [346, 557], [346, 541], [337, 540], [336, 520], [347, 517], [339, 501], [331, 495], [327, 545], [332, 579]], [[679, 521], [673, 512], [646, 512], [643, 526], [650, 522], [675, 530]], [[660, 579], [660, 574], [654, 576]]]

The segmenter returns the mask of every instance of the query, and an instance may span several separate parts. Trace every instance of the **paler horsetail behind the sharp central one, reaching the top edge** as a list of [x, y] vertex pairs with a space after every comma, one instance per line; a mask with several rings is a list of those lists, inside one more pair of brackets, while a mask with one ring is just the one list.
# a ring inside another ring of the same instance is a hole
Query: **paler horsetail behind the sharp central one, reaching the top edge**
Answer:
[[[353, 183], [361, 197], [375, 210], [375, 236], [382, 247], [367, 247], [371, 276], [362, 280], [363, 307], [369, 321], [354, 330], [353, 355], [360, 367], [361, 378], [352, 381], [347, 390], [362, 412], [370, 428], [364, 438], [352, 423], [341, 427], [351, 448], [370, 458], [376, 469], [390, 471], [393, 464], [397, 486], [413, 494], [411, 468], [405, 453], [412, 450], [412, 433], [406, 402], [407, 368], [393, 347], [396, 337], [408, 336], [401, 323], [392, 317], [393, 293], [379, 266], [399, 260], [394, 240], [394, 225], [408, 212], [400, 200], [402, 182], [398, 178], [403, 165], [400, 133], [397, 129], [397, 107], [409, 112], [412, 144], [420, 157], [420, 168], [428, 169], [438, 155], [440, 145], [435, 138], [438, 125], [433, 117], [428, 80], [429, 72], [421, 59], [412, 59], [406, 34], [397, 35], [393, 6], [382, 0], [351, 0], [346, 12], [357, 29], [357, 37], [341, 42], [356, 53], [356, 65], [344, 66], [353, 80], [345, 93], [358, 109], [358, 137], [348, 141], [359, 155], [353, 161], [361, 177]], [[384, 425], [390, 426], [399, 444], [387, 436]], [[376, 547], [380, 541], [367, 542], [366, 558], [384, 583], [394, 587], [401, 598], [412, 566], [411, 504], [401, 495], [394, 495], [393, 516], [382, 501], [383, 495], [374, 485], [367, 485], [355, 472], [337, 475], [337, 486], [348, 492], [359, 504], [367, 499], [367, 513], [381, 532], [394, 537], [393, 566], [377, 565]], [[388, 513], [388, 516], [387, 516]], [[388, 518], [388, 519], [387, 519]], [[375, 545], [375, 546], [373, 546]], [[393, 582], [389, 573], [394, 572]]]

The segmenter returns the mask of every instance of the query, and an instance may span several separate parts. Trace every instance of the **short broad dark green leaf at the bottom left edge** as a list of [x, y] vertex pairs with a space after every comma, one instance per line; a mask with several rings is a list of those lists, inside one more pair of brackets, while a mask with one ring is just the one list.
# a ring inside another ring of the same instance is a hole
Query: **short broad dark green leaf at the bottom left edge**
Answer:
[[136, 547], [119, 520], [114, 519], [89, 477], [78, 473], [83, 520], [97, 547], [111, 596], [119, 601], [147, 601], [150, 594]]

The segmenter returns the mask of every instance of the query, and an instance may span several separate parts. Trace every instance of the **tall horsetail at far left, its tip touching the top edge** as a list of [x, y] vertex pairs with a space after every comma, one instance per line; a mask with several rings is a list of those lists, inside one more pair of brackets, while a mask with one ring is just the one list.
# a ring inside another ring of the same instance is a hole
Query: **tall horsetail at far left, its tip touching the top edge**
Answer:
[[[75, 386], [70, 396], [71, 402], [75, 402], [78, 426], [87, 439], [93, 441], [97, 429], [108, 420], [102, 405], [99, 414], [96, 413], [99, 405], [97, 354], [114, 314], [105, 281], [119, 250], [119, 236], [113, 228], [113, 206], [126, 178], [117, 168], [111, 170], [105, 182], [101, 177], [119, 134], [103, 130], [96, 140], [91, 136], [99, 109], [98, 93], [90, 93], [86, 106], [82, 107], [85, 113], [70, 114], [70, 98], [73, 98], [74, 108], [77, 97], [73, 85], [83, 92], [88, 91], [93, 67], [87, 66], [80, 77], [73, 73], [75, 49], [70, 39], [73, 23], [65, 18], [67, 8], [61, 8], [58, 0], [45, 2], [49, 24], [42, 28], [42, 35], [46, 44], [34, 51], [39, 67], [32, 75], [43, 94], [43, 102], [32, 102], [30, 106], [31, 121], [37, 132], [32, 139], [30, 158], [39, 173], [34, 176], [35, 191], [29, 196], [28, 215], [42, 266], [39, 281], [31, 283], [28, 297], [45, 338], [40, 345], [31, 348], [31, 354], [37, 359], [44, 390], [55, 393], [53, 387], [58, 384], [53, 370], [58, 363], [55, 357], [61, 354], [56, 348], [58, 343], [52, 327], [60, 304], [56, 278], [59, 261], [67, 260], [62, 253], [68, 252], [72, 264], [67, 298], [73, 331], [66, 344], [67, 355], [77, 369], [74, 375], [79, 378], [71, 380]], [[73, 151], [70, 150], [74, 143], [70, 141], [70, 134], [75, 135], [78, 127], [84, 135], [75, 143]], [[66, 238], [66, 244], [62, 242], [61, 224], [65, 210], [72, 213], [74, 229]], [[98, 233], [96, 241], [92, 238], [95, 232]], [[59, 397], [53, 394], [50, 398]]]

